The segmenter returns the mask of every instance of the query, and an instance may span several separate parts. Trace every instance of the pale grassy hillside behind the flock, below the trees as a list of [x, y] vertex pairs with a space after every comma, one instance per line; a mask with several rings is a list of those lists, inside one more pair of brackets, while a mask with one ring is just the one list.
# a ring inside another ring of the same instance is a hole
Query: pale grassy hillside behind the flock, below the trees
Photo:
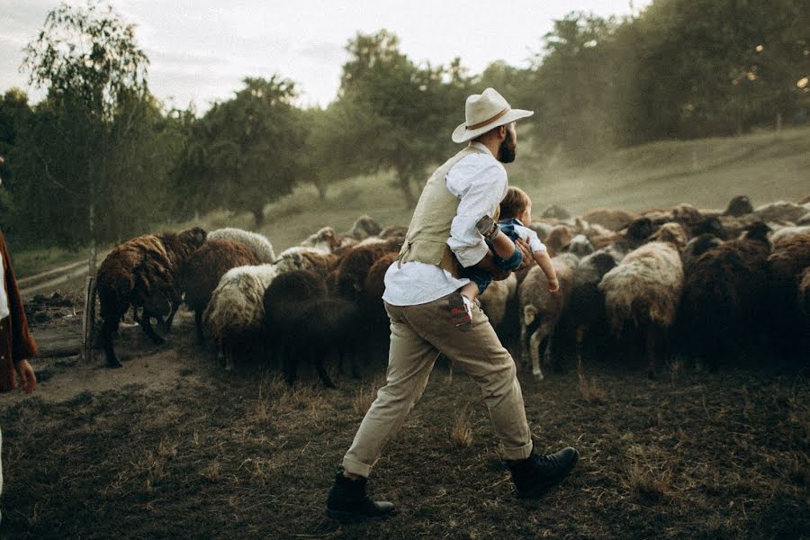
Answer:
[[[549, 204], [581, 214], [599, 207], [643, 211], [680, 202], [723, 208], [736, 194], [747, 194], [758, 206], [810, 194], [810, 127], [779, 134], [655, 142], [580, 167], [538, 156], [526, 138], [518, 140], [518, 152], [518, 160], [507, 166], [509, 181], [532, 196], [536, 216]], [[390, 174], [353, 178], [330, 186], [325, 201], [318, 199], [313, 186], [302, 185], [266, 206], [266, 222], [259, 232], [282, 250], [326, 225], [347, 230], [362, 214], [383, 226], [407, 225], [410, 209], [393, 183]], [[207, 230], [254, 229], [247, 212], [215, 211], [193, 222], [157, 225], [155, 230], [197, 224]], [[14, 265], [18, 275], [26, 276], [83, 257], [60, 250], [18, 251]]]

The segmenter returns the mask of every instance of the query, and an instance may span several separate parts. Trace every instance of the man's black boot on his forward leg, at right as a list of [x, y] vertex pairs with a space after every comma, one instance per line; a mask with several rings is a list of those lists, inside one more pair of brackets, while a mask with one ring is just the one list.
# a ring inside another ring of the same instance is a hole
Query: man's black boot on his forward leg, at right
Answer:
[[572, 472], [580, 453], [571, 446], [556, 454], [536, 455], [534, 449], [526, 459], [507, 462], [512, 482], [518, 488], [518, 499], [540, 497]]

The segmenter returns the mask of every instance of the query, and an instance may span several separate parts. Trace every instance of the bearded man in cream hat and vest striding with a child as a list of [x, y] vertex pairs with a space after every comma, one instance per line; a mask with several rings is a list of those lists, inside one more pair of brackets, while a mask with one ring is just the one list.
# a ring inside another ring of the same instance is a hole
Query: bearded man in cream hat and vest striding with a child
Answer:
[[452, 139], [472, 142], [428, 179], [400, 257], [385, 275], [383, 301], [391, 319], [387, 383], [365, 414], [329, 491], [329, 518], [362, 521], [394, 513], [392, 503], [368, 497], [366, 480], [419, 401], [439, 353], [481, 387], [518, 497], [542, 495], [576, 464], [579, 454], [571, 447], [554, 455], [534, 453], [515, 362], [481, 308], [464, 306], [472, 311], [472, 324], [464, 332], [451, 322], [458, 291], [469, 283], [464, 267], [477, 266], [502, 278], [509, 275], [505, 270], [532, 261], [527, 244], [518, 240], [513, 257], [496, 264], [476, 222], [484, 215], [497, 219], [509, 187], [502, 163], [515, 159], [515, 122], [533, 113], [512, 109], [492, 88], [467, 98], [466, 121]]

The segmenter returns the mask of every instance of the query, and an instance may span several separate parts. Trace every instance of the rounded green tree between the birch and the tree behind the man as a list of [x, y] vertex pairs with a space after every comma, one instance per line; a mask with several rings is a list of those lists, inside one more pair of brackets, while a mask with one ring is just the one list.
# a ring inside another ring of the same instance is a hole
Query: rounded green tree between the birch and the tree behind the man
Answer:
[[247, 77], [244, 83], [190, 126], [175, 183], [186, 194], [181, 210], [250, 211], [260, 227], [265, 204], [290, 193], [302, 177], [305, 129], [292, 104], [292, 81]]

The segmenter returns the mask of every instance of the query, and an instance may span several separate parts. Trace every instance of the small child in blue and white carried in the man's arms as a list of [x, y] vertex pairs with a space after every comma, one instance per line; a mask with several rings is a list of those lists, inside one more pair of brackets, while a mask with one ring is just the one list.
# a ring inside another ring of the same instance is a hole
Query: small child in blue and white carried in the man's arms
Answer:
[[[551, 257], [537, 233], [528, 228], [532, 222], [532, 201], [528, 194], [519, 187], [509, 187], [503, 201], [500, 202], [500, 220], [496, 222], [490, 216], [484, 216], [475, 224], [492, 252], [499, 259], [506, 260], [515, 254], [515, 240], [521, 238], [532, 250], [537, 265], [543, 270], [548, 281], [548, 290], [556, 293], [560, 290], [557, 275]], [[492, 275], [476, 268], [467, 269], [470, 283], [465, 284], [459, 294], [450, 297], [450, 316], [455, 327], [467, 331], [473, 322], [473, 302], [482, 294], [492, 281]]]

